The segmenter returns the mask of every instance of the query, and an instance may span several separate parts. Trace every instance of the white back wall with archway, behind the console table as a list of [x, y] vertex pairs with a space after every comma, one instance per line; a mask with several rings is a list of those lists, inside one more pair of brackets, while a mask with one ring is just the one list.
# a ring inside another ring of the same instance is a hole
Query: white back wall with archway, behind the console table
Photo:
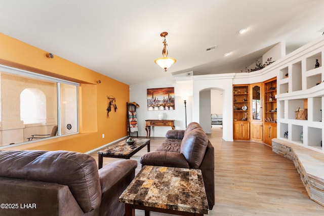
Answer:
[[[276, 60], [279, 56], [284, 55], [284, 43], [279, 43], [273, 50], [270, 50], [263, 57]], [[187, 73], [178, 74], [173, 76], [169, 74], [165, 78], [151, 80], [148, 82], [138, 83], [130, 86], [130, 102], [136, 102], [140, 105], [137, 109], [138, 121], [138, 135], [146, 136], [145, 119], [157, 119], [160, 111], [148, 111], [146, 95], [147, 89], [153, 88], [175, 88], [175, 110], [163, 111], [165, 119], [174, 119], [176, 129], [185, 128], [185, 110], [183, 97], [187, 98], [187, 123], [191, 121], [200, 122], [200, 92], [206, 90], [218, 90], [223, 93], [222, 95], [222, 111], [223, 113], [223, 139], [225, 141], [233, 141], [233, 84], [250, 84], [256, 82], [263, 82], [267, 79], [275, 77], [278, 62], [275, 62], [262, 71], [254, 71], [251, 73], [226, 73], [226, 74], [212, 74], [212, 75], [199, 75], [187, 76]], [[193, 103], [194, 102], [194, 103]], [[214, 102], [213, 102], [214, 103]], [[125, 105], [126, 106], [126, 105]], [[219, 108], [220, 106], [218, 106]], [[211, 110], [208, 113], [210, 118]], [[204, 120], [205, 122], [205, 120]], [[209, 121], [210, 122], [210, 121]], [[152, 137], [165, 137], [166, 132], [171, 129], [170, 127], [152, 127]], [[207, 130], [207, 128], [205, 128]], [[206, 133], [208, 131], [205, 131]], [[134, 136], [134, 135], [132, 135]]]

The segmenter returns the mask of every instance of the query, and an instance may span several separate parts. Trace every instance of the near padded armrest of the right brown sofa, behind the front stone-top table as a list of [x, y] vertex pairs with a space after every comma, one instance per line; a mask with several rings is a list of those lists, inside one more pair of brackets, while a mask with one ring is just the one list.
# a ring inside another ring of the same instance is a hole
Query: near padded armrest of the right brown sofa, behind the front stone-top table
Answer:
[[170, 166], [181, 168], [190, 167], [184, 155], [178, 152], [148, 152], [141, 157], [140, 162], [142, 165]]

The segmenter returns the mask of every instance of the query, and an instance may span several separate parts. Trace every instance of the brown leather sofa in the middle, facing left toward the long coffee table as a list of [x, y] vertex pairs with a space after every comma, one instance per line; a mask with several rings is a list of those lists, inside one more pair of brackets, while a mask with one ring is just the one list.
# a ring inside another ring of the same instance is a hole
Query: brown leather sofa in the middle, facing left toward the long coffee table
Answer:
[[166, 137], [167, 139], [157, 147], [157, 151], [148, 152], [141, 157], [141, 164], [201, 169], [209, 209], [213, 209], [214, 147], [203, 128], [197, 122], [191, 122], [184, 131], [170, 130]]

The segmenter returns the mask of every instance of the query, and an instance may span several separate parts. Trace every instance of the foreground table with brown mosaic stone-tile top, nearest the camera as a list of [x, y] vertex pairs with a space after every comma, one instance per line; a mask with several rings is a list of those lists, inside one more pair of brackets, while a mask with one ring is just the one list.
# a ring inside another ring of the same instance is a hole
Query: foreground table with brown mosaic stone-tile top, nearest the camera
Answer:
[[135, 209], [177, 215], [209, 213], [208, 201], [200, 169], [144, 166], [119, 196], [126, 206], [126, 216]]

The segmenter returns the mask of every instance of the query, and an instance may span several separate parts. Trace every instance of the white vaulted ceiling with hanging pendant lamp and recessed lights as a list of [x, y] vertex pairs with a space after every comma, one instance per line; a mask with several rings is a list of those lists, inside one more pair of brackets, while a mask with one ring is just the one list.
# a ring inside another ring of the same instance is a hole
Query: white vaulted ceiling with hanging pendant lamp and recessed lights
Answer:
[[[290, 53], [322, 35], [324, 1], [0, 0], [0, 20], [6, 35], [131, 85], [239, 72], [280, 41]], [[177, 59], [167, 73], [154, 63], [163, 31]]]

